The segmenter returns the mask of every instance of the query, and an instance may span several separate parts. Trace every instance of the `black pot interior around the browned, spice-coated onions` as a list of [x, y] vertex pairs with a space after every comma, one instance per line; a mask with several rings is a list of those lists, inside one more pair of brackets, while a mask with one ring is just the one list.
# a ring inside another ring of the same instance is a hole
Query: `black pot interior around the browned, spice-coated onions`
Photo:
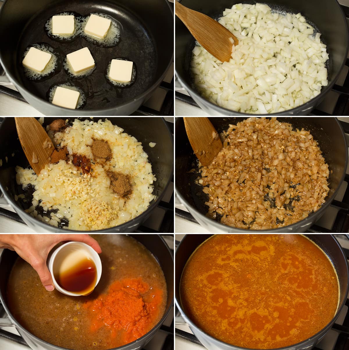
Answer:
[[[243, 117], [211, 117], [209, 118], [218, 132], [227, 130], [229, 124], [236, 124], [246, 118]], [[314, 139], [319, 142], [325, 161], [329, 165], [329, 193], [326, 203], [331, 202], [347, 169], [347, 144], [339, 121], [334, 117], [279, 117], [279, 121], [290, 123], [294, 128], [309, 130]], [[183, 118], [176, 120], [176, 191], [184, 198], [187, 205], [197, 209], [205, 215], [208, 211], [205, 202], [208, 195], [203, 193], [203, 186], [196, 184], [198, 172], [189, 172], [198, 168], [198, 161], [187, 138]], [[325, 204], [326, 204], [325, 203]], [[319, 210], [322, 210], [320, 208]], [[309, 218], [312, 214], [309, 215]], [[205, 219], [208, 220], [207, 217]], [[246, 230], [244, 230], [246, 231]]]

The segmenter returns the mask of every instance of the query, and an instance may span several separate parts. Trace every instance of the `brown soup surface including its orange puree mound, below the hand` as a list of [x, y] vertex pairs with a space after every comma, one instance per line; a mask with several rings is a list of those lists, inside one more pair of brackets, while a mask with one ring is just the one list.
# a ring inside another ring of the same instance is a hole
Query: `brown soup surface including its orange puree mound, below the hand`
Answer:
[[15, 319], [35, 336], [66, 349], [112, 349], [135, 341], [162, 318], [164, 274], [153, 255], [125, 235], [96, 235], [102, 277], [88, 296], [47, 292], [39, 276], [18, 258], [8, 282]]

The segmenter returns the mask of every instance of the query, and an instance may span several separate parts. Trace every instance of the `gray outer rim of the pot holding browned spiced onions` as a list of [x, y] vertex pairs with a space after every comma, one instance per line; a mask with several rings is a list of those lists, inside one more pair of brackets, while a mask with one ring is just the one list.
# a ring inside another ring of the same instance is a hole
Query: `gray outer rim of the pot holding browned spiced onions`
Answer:
[[[249, 114], [249, 116], [251, 116]], [[340, 127], [341, 133], [342, 133], [342, 137], [343, 140], [345, 142], [345, 164], [344, 164], [344, 171], [343, 174], [341, 176], [341, 180], [339, 182], [339, 185], [337, 187], [337, 189], [334, 191], [334, 193], [328, 198], [328, 200], [321, 205], [321, 208], [319, 208], [318, 210], [316, 210], [315, 212], [313, 212], [312, 214], [308, 215], [306, 218], [302, 219], [301, 221], [298, 221], [294, 224], [291, 225], [287, 225], [287, 226], [283, 226], [277, 229], [269, 229], [269, 230], [249, 230], [249, 229], [239, 229], [233, 226], [228, 226], [228, 225], [224, 225], [221, 224], [218, 221], [215, 221], [214, 219], [208, 218], [207, 216], [205, 216], [203, 213], [201, 213], [200, 211], [198, 211], [195, 207], [193, 207], [191, 204], [189, 204], [187, 202], [187, 200], [179, 193], [179, 190], [177, 190], [176, 188], [176, 195], [179, 197], [180, 201], [185, 205], [185, 207], [190, 211], [190, 212], [194, 212], [197, 216], [199, 216], [203, 221], [207, 221], [210, 220], [210, 224], [212, 224], [217, 230], [223, 230], [226, 231], [227, 228], [229, 229], [229, 231], [231, 232], [255, 232], [255, 233], [275, 233], [275, 232], [286, 232], [288, 229], [293, 229], [296, 228], [296, 226], [299, 226], [300, 223], [303, 223], [304, 226], [308, 226], [310, 219], [312, 219], [314, 216], [319, 217], [323, 214], [323, 212], [325, 211], [325, 209], [333, 202], [335, 196], [338, 193], [338, 190], [340, 188], [340, 185], [342, 184], [344, 177], [346, 175], [346, 169], [348, 166], [348, 145], [347, 145], [347, 140], [345, 138], [345, 133], [344, 130], [342, 128], [341, 123], [338, 121], [338, 119], [336, 117], [334, 117], [334, 120], [336, 121], [337, 125]], [[200, 224], [201, 225], [201, 224]], [[301, 226], [302, 227], [302, 226]]]

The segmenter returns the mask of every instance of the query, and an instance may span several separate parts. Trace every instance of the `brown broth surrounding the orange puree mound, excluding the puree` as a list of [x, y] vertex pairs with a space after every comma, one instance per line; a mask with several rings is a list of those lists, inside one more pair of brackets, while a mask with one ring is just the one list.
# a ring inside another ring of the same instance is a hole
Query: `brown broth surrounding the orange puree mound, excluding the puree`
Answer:
[[141, 293], [144, 302], [152, 299], [154, 290], [161, 291], [156, 315], [143, 325], [146, 331], [160, 321], [166, 308], [164, 274], [143, 245], [125, 235], [93, 237], [102, 248], [103, 270], [100, 282], [88, 296], [70, 297], [56, 290], [46, 292], [34, 269], [20, 258], [9, 277], [7, 296], [15, 319], [38, 338], [62, 348], [105, 350], [124, 345], [126, 338], [127, 342], [135, 340], [128, 332], [105, 326], [103, 322], [95, 327], [90, 308], [86, 307], [100, 303], [101, 295], [108, 296], [116, 281], [135, 279], [149, 285], [149, 290]]

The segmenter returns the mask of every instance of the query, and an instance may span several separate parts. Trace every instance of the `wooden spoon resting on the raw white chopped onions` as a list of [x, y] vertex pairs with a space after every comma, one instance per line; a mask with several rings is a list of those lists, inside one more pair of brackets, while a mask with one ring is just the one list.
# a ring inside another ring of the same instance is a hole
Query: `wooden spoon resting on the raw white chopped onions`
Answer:
[[176, 16], [189, 29], [193, 37], [212, 56], [221, 62], [229, 62], [232, 54], [233, 44], [229, 38], [233, 38], [234, 45], [239, 42], [227, 28], [203, 13], [191, 10], [176, 2]]

